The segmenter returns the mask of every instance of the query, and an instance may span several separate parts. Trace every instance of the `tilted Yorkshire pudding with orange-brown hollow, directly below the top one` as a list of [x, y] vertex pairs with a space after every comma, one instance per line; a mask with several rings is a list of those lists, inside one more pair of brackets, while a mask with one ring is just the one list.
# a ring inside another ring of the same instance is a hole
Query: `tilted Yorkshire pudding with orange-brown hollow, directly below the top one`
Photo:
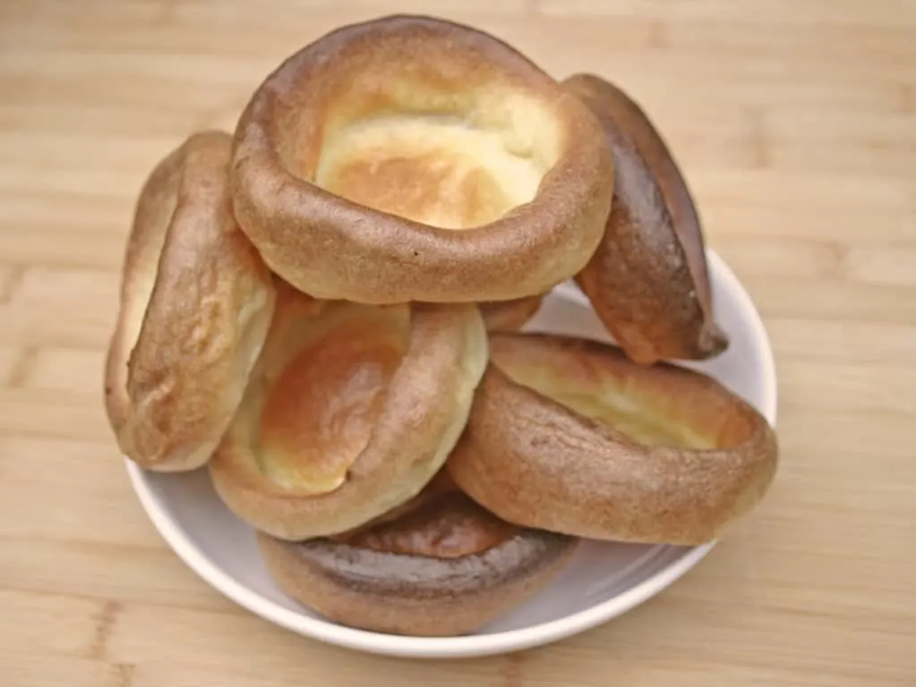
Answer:
[[486, 360], [473, 304], [321, 302], [285, 284], [213, 485], [281, 539], [353, 530], [442, 467]]

